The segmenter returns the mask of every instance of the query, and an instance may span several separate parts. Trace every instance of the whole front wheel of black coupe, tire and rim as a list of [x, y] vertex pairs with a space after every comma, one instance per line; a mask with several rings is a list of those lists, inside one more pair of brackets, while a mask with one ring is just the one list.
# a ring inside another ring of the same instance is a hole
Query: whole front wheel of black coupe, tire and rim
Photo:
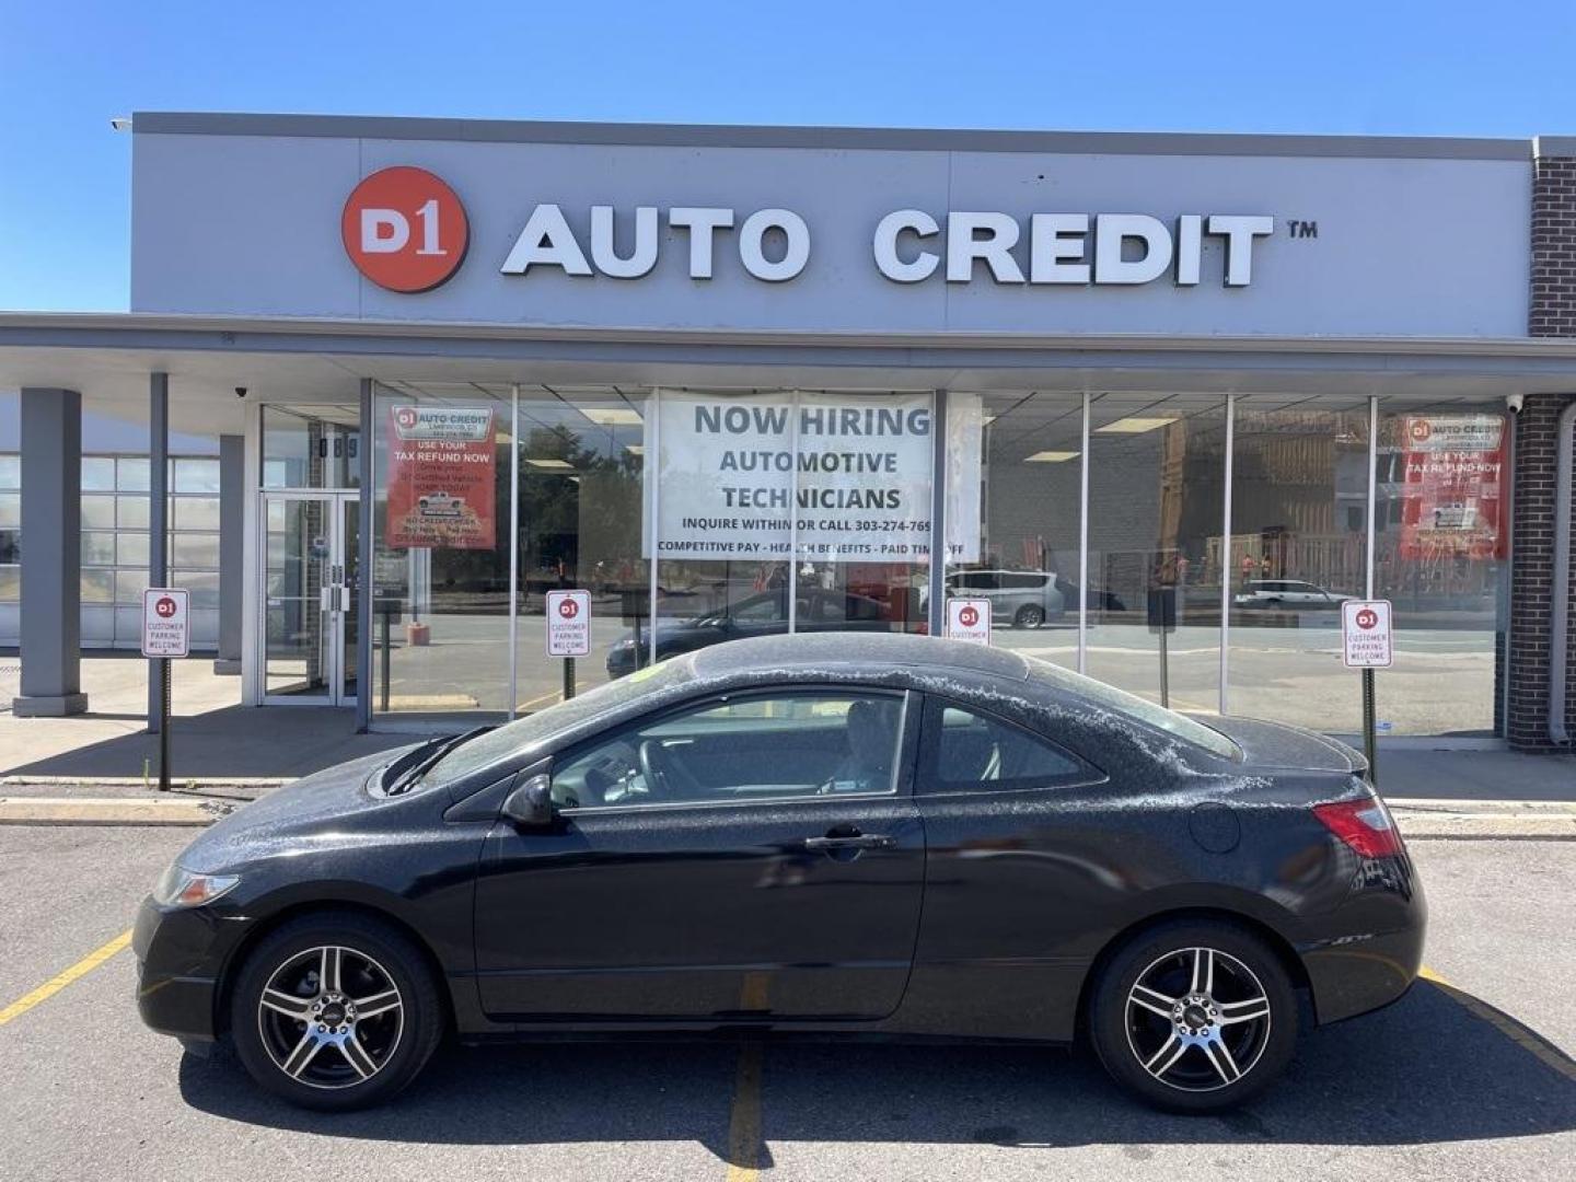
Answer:
[[269, 1092], [350, 1111], [416, 1078], [443, 1037], [444, 1010], [407, 935], [372, 916], [322, 911], [268, 933], [246, 957], [230, 1031], [241, 1064]]

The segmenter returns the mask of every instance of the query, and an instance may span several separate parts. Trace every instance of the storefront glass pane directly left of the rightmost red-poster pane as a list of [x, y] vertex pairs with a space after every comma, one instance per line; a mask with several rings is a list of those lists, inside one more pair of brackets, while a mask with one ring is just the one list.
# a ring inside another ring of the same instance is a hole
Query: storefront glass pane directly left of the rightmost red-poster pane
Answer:
[[1341, 600], [1368, 572], [1368, 400], [1242, 396], [1232, 433], [1229, 709], [1357, 731]]

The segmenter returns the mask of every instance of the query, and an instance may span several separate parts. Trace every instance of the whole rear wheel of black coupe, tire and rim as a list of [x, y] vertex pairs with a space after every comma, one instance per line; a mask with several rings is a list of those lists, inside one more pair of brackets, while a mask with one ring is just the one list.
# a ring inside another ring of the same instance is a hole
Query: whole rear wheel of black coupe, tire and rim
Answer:
[[1152, 927], [1105, 965], [1089, 1007], [1102, 1065], [1171, 1113], [1247, 1103], [1291, 1062], [1297, 994], [1273, 949], [1218, 920]]

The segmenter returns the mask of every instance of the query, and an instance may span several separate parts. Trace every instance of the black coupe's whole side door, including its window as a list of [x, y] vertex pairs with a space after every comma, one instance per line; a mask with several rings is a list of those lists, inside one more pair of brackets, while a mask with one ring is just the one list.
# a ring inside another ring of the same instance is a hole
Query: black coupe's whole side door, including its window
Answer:
[[908, 695], [733, 693], [553, 760], [559, 821], [489, 835], [482, 1007], [500, 1021], [876, 1020], [924, 889]]

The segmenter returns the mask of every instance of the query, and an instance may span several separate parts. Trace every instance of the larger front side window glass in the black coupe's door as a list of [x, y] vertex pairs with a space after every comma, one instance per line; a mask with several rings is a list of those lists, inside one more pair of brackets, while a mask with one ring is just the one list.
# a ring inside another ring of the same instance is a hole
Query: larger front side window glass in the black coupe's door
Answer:
[[742, 804], [897, 791], [903, 697], [734, 695], [630, 723], [553, 768], [561, 808]]

